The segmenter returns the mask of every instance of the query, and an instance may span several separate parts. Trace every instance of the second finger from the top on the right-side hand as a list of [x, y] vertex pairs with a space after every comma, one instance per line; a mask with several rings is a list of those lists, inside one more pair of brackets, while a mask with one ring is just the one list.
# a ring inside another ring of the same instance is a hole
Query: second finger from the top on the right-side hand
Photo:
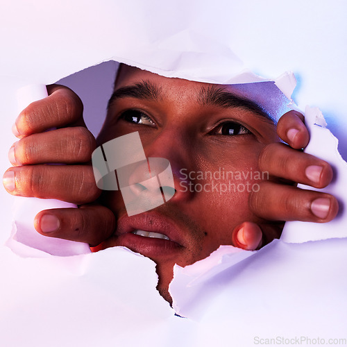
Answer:
[[264, 147], [260, 153], [259, 167], [271, 176], [316, 188], [326, 187], [333, 176], [328, 162], [281, 143]]

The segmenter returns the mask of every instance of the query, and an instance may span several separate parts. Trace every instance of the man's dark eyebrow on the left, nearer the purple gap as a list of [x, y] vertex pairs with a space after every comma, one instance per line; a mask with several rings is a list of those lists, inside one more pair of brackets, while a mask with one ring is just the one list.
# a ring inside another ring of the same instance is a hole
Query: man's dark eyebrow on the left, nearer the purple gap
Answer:
[[157, 85], [150, 83], [149, 81], [142, 81], [135, 85], [121, 87], [115, 90], [111, 95], [110, 100], [108, 101], [108, 108], [110, 108], [112, 103], [117, 99], [126, 97], [158, 101], [160, 99], [160, 91], [161, 89]]

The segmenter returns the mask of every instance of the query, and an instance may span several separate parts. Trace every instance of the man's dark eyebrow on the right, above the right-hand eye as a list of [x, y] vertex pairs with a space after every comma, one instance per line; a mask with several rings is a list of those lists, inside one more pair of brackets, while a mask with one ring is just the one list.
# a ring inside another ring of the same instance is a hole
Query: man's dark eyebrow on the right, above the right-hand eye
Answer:
[[201, 105], [217, 105], [223, 108], [248, 110], [259, 116], [262, 120], [275, 124], [273, 117], [254, 101], [227, 92], [216, 85], [201, 87], [198, 102]]

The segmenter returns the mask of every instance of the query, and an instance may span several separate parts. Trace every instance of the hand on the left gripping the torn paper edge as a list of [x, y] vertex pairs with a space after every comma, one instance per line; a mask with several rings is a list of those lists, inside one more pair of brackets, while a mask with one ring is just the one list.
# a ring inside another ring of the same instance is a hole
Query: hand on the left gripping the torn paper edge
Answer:
[[[90, 164], [95, 139], [85, 127], [81, 99], [67, 87], [47, 89], [50, 95], [28, 105], [15, 122], [13, 133], [19, 141], [9, 152], [14, 167], [6, 171], [3, 182], [12, 195], [78, 204], [78, 209], [41, 211], [35, 229], [42, 235], [96, 246], [112, 234], [115, 216], [95, 203], [101, 194]], [[45, 132], [50, 128], [56, 130]]]

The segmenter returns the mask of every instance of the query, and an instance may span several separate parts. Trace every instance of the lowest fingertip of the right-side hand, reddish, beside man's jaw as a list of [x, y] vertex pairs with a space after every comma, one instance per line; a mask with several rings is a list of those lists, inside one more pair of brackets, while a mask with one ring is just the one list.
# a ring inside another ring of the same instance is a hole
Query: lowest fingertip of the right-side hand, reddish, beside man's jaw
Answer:
[[254, 251], [262, 244], [262, 230], [257, 224], [244, 222], [237, 226], [233, 232], [233, 242], [235, 247]]

